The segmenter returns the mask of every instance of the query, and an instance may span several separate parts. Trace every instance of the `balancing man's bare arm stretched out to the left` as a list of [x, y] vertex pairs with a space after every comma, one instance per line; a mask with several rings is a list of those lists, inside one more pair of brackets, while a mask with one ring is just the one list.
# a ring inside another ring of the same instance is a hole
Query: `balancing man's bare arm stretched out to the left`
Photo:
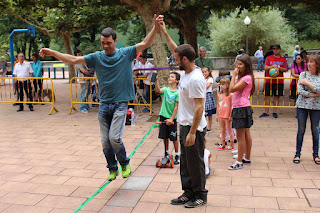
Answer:
[[51, 50], [49, 48], [42, 48], [40, 50], [39, 54], [41, 57], [53, 56], [53, 57], [59, 59], [60, 61], [63, 61], [64, 63], [67, 63], [67, 64], [87, 65], [83, 56], [73, 56], [73, 55], [69, 55], [69, 54], [65, 54], [65, 53], [60, 53], [58, 51]]

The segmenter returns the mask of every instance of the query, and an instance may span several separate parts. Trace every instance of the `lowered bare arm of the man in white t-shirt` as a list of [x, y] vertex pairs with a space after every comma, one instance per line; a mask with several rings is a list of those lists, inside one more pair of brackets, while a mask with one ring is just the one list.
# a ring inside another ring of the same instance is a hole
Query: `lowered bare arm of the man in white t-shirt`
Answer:
[[193, 115], [193, 122], [190, 128], [190, 131], [186, 138], [186, 146], [193, 146], [196, 139], [196, 132], [201, 122], [201, 117], [204, 109], [204, 98], [195, 98], [194, 99], [195, 112]]

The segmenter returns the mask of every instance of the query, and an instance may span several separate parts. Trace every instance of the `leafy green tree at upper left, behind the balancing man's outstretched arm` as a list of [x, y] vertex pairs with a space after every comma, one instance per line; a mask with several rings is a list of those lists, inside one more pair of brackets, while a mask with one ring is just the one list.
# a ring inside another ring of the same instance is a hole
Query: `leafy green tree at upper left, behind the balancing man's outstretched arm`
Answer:
[[[115, 21], [128, 12], [112, 5], [113, 1], [99, 0], [3, 0], [0, 3], [7, 14], [13, 15], [42, 33], [61, 36], [67, 54], [73, 55], [71, 36], [88, 26], [101, 21]], [[69, 65], [69, 78], [75, 76], [73, 65]]]

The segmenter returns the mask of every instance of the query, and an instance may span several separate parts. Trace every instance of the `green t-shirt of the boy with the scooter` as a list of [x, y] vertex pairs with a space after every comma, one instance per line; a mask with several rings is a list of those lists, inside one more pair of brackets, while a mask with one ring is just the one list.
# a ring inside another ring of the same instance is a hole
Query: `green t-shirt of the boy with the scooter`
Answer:
[[[169, 87], [163, 87], [162, 105], [160, 115], [166, 118], [171, 118], [176, 102], [179, 102], [179, 90], [171, 91]], [[175, 116], [177, 118], [177, 115]]]

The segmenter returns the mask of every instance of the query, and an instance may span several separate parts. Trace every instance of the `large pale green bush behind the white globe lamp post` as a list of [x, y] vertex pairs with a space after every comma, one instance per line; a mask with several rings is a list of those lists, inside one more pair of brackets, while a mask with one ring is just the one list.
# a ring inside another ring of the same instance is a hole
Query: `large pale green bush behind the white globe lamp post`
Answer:
[[209, 19], [210, 46], [215, 56], [235, 56], [237, 50], [246, 45], [246, 25], [244, 19], [249, 16], [249, 54], [252, 55], [261, 45], [265, 50], [270, 45], [280, 44], [282, 54], [291, 53], [297, 43], [296, 31], [288, 24], [278, 9], [252, 11], [239, 9], [227, 17], [219, 18], [212, 14]]

